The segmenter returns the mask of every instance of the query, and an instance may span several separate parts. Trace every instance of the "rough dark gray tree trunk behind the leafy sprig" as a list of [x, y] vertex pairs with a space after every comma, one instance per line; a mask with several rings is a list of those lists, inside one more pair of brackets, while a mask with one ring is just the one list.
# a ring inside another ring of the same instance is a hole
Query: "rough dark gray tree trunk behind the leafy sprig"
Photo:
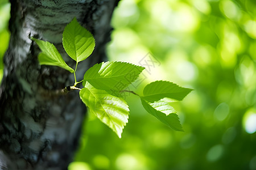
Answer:
[[50, 41], [69, 66], [62, 33], [76, 17], [96, 39], [92, 56], [79, 63], [77, 80], [105, 58], [110, 19], [117, 0], [11, 0], [9, 49], [0, 88], [0, 169], [67, 169], [79, 145], [86, 108], [79, 92], [58, 95], [73, 85], [73, 74], [40, 66], [30, 37]]

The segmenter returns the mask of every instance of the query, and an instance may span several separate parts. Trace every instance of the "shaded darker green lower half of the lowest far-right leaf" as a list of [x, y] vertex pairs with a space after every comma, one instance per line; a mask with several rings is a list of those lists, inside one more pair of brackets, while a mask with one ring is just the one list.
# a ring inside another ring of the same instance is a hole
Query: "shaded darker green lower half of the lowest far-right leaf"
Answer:
[[155, 108], [153, 108], [150, 104], [147, 103], [147, 101], [145, 101], [142, 98], [141, 98], [141, 103], [142, 103], [144, 109], [148, 113], [150, 113], [153, 116], [155, 116], [156, 118], [158, 118], [159, 121], [163, 122], [164, 124], [169, 126], [171, 129], [174, 129], [176, 131], [184, 131], [180, 124], [180, 120], [179, 120], [179, 117], [177, 116], [177, 114], [170, 113], [170, 114], [166, 115], [165, 113], [162, 113], [162, 112], [156, 110]]

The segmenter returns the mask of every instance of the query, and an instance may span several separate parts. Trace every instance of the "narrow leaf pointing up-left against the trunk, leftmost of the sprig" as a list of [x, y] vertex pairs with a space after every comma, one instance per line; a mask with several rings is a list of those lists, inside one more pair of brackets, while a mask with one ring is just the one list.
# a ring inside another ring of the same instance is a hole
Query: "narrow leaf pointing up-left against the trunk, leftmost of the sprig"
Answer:
[[56, 47], [51, 44], [51, 42], [38, 40], [35, 38], [31, 38], [38, 44], [39, 48], [42, 50], [42, 53], [38, 55], [38, 60], [40, 65], [51, 65], [51, 66], [59, 66], [65, 70], [70, 71], [71, 73], [74, 70], [65, 63], [60, 53], [56, 49]]

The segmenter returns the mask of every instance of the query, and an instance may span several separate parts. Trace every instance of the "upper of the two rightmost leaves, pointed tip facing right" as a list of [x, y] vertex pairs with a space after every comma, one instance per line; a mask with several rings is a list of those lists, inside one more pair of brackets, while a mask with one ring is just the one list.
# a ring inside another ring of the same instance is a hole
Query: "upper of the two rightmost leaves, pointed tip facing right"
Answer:
[[190, 88], [183, 88], [177, 86], [177, 84], [167, 81], [156, 81], [147, 86], [143, 90], [143, 99], [150, 101], [158, 101], [164, 97], [168, 97], [175, 100], [183, 100], [185, 96], [191, 92]]

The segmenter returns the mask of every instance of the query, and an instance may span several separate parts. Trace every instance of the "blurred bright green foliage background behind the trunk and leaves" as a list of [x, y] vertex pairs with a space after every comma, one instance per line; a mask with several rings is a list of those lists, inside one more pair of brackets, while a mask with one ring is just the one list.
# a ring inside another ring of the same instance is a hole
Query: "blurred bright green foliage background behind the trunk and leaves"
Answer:
[[[122, 139], [89, 114], [69, 169], [256, 169], [255, 16], [254, 0], [119, 2], [109, 59], [144, 64], [135, 92], [160, 79], [195, 89], [174, 105], [185, 132], [126, 96], [131, 112]], [[8, 38], [0, 40], [2, 55]]]

